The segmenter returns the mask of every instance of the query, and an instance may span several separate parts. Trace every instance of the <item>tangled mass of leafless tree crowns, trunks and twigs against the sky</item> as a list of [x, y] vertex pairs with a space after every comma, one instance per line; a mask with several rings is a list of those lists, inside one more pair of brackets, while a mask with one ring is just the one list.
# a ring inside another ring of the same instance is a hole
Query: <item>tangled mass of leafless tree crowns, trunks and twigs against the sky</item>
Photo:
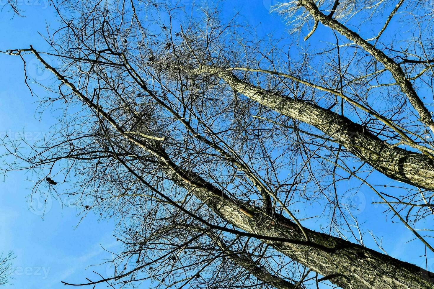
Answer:
[[3, 169], [116, 220], [114, 276], [81, 285], [432, 287], [358, 218], [369, 190], [434, 253], [430, 5], [290, 1], [282, 38], [219, 5], [53, 6], [50, 49], [4, 52], [30, 90], [29, 57], [53, 74], [40, 105], [59, 123], [5, 139]]

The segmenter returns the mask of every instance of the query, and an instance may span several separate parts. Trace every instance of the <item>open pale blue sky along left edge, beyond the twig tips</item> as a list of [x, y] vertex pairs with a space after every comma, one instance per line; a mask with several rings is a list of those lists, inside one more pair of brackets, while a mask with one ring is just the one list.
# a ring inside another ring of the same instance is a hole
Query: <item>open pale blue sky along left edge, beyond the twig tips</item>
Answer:
[[[38, 32], [43, 34], [46, 23], [54, 21], [53, 10], [42, 2], [41, 5], [19, 3], [26, 17], [11, 19], [11, 13], [2, 12], [0, 49], [23, 48], [30, 44], [43, 49], [46, 45]], [[16, 139], [20, 133], [30, 142], [40, 140], [49, 133], [55, 120], [49, 111], [37, 112], [38, 98], [31, 96], [23, 83], [20, 59], [6, 55], [0, 58], [3, 68], [7, 68], [0, 70], [0, 136], [7, 134]], [[28, 67], [30, 75], [41, 81], [50, 76], [31, 58]], [[32, 88], [39, 96], [46, 96], [38, 86]], [[7, 288], [61, 288], [61, 280], [82, 281], [85, 276], [92, 276], [90, 272], [95, 268], [85, 270], [86, 267], [110, 259], [111, 254], [105, 249], [116, 251], [113, 224], [99, 221], [91, 214], [79, 224], [76, 209], [61, 206], [53, 197], [47, 199], [44, 213], [42, 198], [29, 201], [33, 184], [28, 179], [29, 175], [15, 172], [2, 177], [0, 182], [0, 250], [13, 250], [16, 255], [12, 266], [13, 285]], [[85, 273], [87, 271], [89, 273]], [[110, 268], [101, 266], [98, 272], [107, 276]]]

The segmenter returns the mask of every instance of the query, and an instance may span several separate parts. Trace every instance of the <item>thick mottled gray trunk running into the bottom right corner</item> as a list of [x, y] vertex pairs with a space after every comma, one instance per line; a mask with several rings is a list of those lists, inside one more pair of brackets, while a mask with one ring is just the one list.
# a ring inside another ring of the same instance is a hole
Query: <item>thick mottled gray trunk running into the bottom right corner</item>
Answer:
[[[299, 227], [287, 218], [279, 215], [272, 218], [259, 208], [248, 206], [240, 210], [232, 201], [221, 198], [207, 189], [191, 188], [191, 191], [222, 218], [244, 231], [304, 240]], [[245, 210], [250, 214], [245, 214]], [[337, 237], [307, 228], [304, 230], [309, 235], [309, 240], [326, 246], [329, 250], [282, 241], [263, 241], [313, 271], [329, 276], [330, 282], [344, 289], [434, 288], [434, 283], [430, 280], [430, 277], [434, 276], [433, 273], [426, 272], [418, 266]]]

